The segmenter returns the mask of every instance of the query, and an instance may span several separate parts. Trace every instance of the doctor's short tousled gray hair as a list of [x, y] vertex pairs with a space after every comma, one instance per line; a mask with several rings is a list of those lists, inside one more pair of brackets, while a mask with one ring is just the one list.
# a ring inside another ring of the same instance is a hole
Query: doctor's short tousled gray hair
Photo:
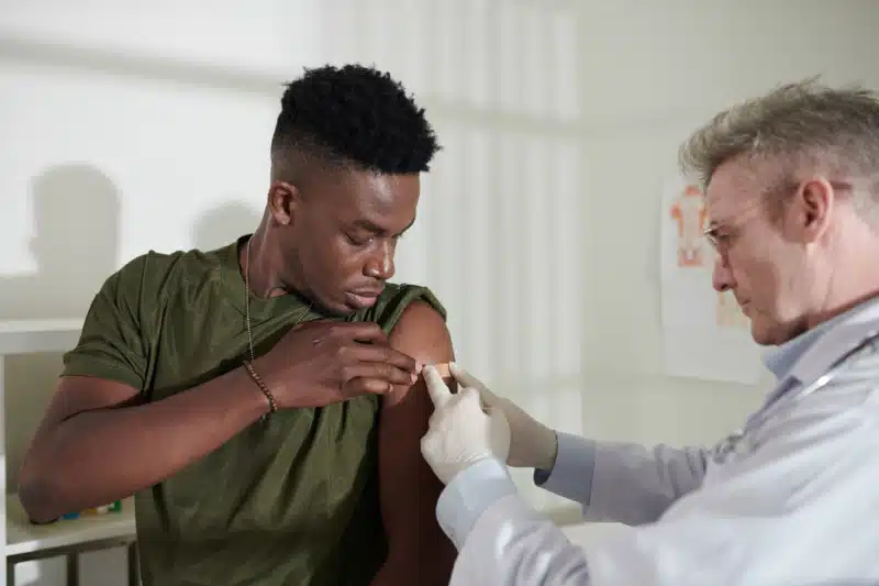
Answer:
[[[683, 173], [703, 187], [726, 161], [749, 157], [781, 164], [779, 181], [804, 165], [841, 179], [879, 183], [879, 93], [859, 86], [831, 88], [810, 78], [716, 114], [681, 146]], [[770, 188], [771, 189], [771, 188]]]

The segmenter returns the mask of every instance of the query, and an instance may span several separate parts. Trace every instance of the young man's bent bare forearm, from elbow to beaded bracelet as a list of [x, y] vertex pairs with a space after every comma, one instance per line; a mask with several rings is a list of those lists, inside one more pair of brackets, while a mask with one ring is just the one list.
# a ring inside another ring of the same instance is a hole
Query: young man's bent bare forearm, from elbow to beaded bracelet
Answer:
[[267, 408], [237, 368], [159, 401], [84, 411], [34, 446], [22, 504], [45, 522], [129, 497], [216, 450]]

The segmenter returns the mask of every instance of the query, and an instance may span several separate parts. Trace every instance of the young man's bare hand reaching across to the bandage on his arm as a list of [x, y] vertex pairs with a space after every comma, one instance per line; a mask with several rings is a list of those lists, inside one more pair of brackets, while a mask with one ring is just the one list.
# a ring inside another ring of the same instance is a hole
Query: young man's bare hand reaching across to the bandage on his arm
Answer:
[[388, 345], [376, 323], [312, 321], [254, 362], [279, 408], [323, 407], [412, 385], [420, 365]]

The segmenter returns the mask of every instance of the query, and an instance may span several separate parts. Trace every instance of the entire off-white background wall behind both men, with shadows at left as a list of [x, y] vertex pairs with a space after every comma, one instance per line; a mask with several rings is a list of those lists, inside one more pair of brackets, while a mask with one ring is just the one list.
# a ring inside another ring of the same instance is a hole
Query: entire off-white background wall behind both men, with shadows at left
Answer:
[[[0, 317], [81, 314], [147, 248], [251, 230], [280, 82], [375, 62], [446, 145], [400, 280], [434, 287], [460, 361], [547, 423], [644, 442], [711, 441], [759, 398], [661, 375], [656, 217], [677, 144], [779, 81], [879, 85], [870, 0], [0, 3]], [[13, 479], [58, 366], [9, 367]], [[120, 555], [86, 565], [88, 584], [121, 579]]]

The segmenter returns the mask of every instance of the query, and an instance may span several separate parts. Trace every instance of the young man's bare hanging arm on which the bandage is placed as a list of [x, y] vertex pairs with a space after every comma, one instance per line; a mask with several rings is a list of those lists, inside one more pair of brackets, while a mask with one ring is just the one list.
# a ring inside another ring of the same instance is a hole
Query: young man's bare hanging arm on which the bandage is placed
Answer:
[[[424, 301], [407, 307], [390, 343], [422, 363], [454, 360], [443, 316]], [[424, 584], [445, 584], [455, 550], [436, 521], [443, 485], [421, 455], [421, 438], [432, 410], [422, 378], [385, 397], [379, 423], [380, 497], [390, 555], [411, 557]]]

